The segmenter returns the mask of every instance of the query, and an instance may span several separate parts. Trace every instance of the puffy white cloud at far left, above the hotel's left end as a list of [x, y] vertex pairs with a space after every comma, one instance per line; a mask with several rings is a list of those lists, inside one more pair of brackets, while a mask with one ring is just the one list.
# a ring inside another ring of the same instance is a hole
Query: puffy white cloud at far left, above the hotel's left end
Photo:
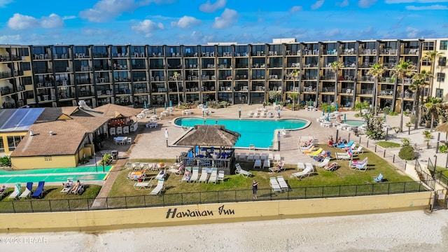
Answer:
[[33, 28], [57, 28], [63, 27], [64, 20], [59, 15], [51, 13], [48, 17], [42, 17], [40, 20], [29, 15], [15, 13], [13, 18], [8, 20], [10, 29], [33, 29]]

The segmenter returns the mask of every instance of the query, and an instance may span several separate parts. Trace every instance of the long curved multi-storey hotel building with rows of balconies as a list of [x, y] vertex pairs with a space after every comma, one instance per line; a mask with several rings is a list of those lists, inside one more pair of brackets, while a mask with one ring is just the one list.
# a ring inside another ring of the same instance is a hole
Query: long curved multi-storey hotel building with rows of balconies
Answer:
[[[400, 60], [415, 71], [433, 71], [435, 78], [424, 96], [447, 100], [447, 43], [444, 39], [296, 42], [209, 43], [207, 45], [0, 45], [0, 104], [3, 108], [88, 106], [104, 104], [143, 107], [171, 101], [261, 104], [269, 93], [288, 100], [299, 93], [300, 102], [353, 106], [373, 101], [370, 66], [386, 71], [378, 81], [377, 102], [400, 111], [412, 109], [414, 93], [393, 76]], [[434, 65], [421, 60], [425, 52], [443, 55]], [[335, 74], [330, 65], [343, 67]], [[298, 76], [290, 73], [297, 69]], [[179, 76], [175, 76], [178, 73]], [[447, 76], [448, 77], [448, 76]], [[335, 85], [337, 83], [337, 85]], [[272, 99], [270, 99], [272, 101]]]

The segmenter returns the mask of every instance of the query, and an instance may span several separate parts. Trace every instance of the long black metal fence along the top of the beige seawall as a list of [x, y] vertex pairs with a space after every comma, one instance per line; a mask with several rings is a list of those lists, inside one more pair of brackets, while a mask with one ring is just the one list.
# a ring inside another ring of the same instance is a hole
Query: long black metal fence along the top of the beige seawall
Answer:
[[[283, 193], [270, 189], [258, 190], [257, 201], [302, 200], [325, 197], [392, 195], [429, 190], [423, 183], [370, 183], [352, 186], [316, 186], [290, 188]], [[196, 193], [176, 193], [160, 196], [141, 195], [67, 200], [13, 200], [0, 202], [0, 213], [34, 213], [57, 211], [92, 211], [99, 209], [130, 209], [137, 207], [167, 207], [186, 204], [211, 204], [253, 201], [252, 190], [221, 190]]]

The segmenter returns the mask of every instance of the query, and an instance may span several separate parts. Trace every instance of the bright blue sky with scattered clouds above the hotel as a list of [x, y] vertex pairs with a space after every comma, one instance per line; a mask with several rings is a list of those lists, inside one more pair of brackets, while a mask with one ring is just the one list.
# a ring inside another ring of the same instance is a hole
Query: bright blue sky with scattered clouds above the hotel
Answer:
[[0, 0], [0, 13], [0, 44], [448, 37], [448, 0]]

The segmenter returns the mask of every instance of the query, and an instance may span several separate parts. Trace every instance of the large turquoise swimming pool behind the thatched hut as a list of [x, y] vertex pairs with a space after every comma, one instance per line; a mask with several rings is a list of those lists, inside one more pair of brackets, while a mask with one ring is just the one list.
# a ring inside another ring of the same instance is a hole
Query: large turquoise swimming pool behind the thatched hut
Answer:
[[[272, 146], [274, 130], [298, 130], [308, 125], [307, 120], [302, 119], [280, 119], [280, 120], [257, 120], [257, 119], [223, 119], [207, 118], [206, 125], [225, 125], [225, 128], [241, 134], [235, 147], [248, 148], [253, 144], [256, 148], [268, 148]], [[204, 118], [183, 117], [174, 120], [174, 124], [184, 127], [203, 125]]]

